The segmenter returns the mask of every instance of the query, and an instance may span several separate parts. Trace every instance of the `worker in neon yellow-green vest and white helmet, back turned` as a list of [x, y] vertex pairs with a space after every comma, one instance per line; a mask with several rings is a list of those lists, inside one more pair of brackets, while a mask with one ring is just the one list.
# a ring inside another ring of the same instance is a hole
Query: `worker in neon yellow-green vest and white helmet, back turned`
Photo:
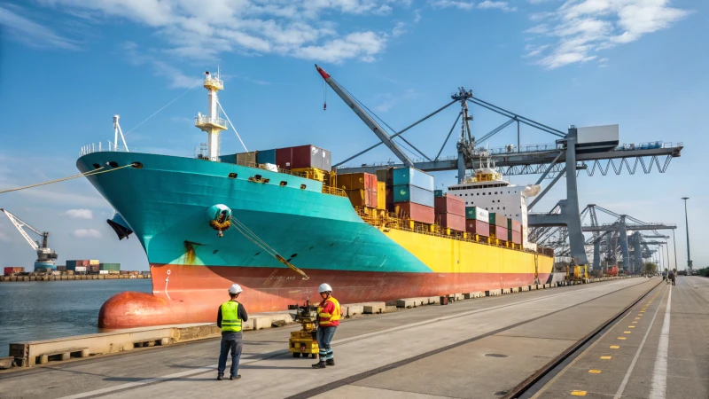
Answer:
[[241, 349], [244, 347], [241, 336], [241, 325], [249, 319], [244, 305], [237, 301], [238, 294], [244, 290], [241, 286], [234, 284], [229, 287], [231, 299], [222, 303], [216, 316], [216, 325], [222, 329], [222, 350], [219, 353], [219, 366], [217, 367], [216, 379], [224, 379], [224, 371], [227, 368], [227, 356], [231, 352], [231, 370], [229, 379], [240, 379], [238, 375], [238, 359], [241, 357]]

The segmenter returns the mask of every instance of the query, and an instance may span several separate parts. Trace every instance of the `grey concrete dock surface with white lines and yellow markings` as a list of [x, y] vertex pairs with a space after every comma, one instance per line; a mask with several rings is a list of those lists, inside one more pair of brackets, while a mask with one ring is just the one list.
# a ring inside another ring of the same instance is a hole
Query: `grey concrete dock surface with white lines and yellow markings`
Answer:
[[324, 370], [291, 356], [297, 327], [288, 326], [245, 332], [237, 381], [215, 380], [213, 339], [2, 372], [0, 397], [499, 398], [614, 317], [526, 397], [613, 397], [623, 384], [622, 397], [709, 397], [709, 279], [697, 277], [673, 287], [627, 278], [345, 320], [333, 340], [337, 365]]

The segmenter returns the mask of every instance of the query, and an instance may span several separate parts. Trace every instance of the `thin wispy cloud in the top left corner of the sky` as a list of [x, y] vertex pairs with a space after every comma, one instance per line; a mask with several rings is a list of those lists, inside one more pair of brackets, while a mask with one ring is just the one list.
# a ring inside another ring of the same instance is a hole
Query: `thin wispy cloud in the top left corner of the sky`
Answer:
[[49, 27], [0, 7], [0, 27], [14, 40], [45, 49], [79, 50], [78, 43], [58, 35]]

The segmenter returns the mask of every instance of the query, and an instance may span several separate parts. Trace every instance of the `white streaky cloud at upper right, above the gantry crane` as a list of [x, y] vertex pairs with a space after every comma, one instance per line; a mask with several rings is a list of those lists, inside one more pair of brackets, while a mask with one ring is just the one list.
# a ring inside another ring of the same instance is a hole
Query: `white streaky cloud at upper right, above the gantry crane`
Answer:
[[539, 46], [542, 51], [526, 56], [538, 57], [536, 63], [548, 69], [588, 62], [598, 57], [598, 51], [634, 42], [690, 14], [669, 4], [669, 0], [568, 0], [556, 12], [530, 16], [544, 22], [525, 33], [541, 35], [547, 47]]

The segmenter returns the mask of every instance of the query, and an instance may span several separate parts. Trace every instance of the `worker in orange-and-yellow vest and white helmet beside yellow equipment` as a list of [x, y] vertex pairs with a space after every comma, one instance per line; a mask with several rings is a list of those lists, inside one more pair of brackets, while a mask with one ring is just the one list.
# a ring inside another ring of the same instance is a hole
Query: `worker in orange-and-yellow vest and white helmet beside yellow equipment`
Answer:
[[324, 369], [326, 366], [335, 365], [332, 356], [330, 342], [335, 335], [339, 325], [339, 317], [342, 310], [339, 308], [339, 301], [332, 298], [332, 287], [328, 284], [321, 284], [318, 288], [323, 301], [317, 307], [317, 346], [320, 348], [320, 362], [313, 364], [315, 369]]

